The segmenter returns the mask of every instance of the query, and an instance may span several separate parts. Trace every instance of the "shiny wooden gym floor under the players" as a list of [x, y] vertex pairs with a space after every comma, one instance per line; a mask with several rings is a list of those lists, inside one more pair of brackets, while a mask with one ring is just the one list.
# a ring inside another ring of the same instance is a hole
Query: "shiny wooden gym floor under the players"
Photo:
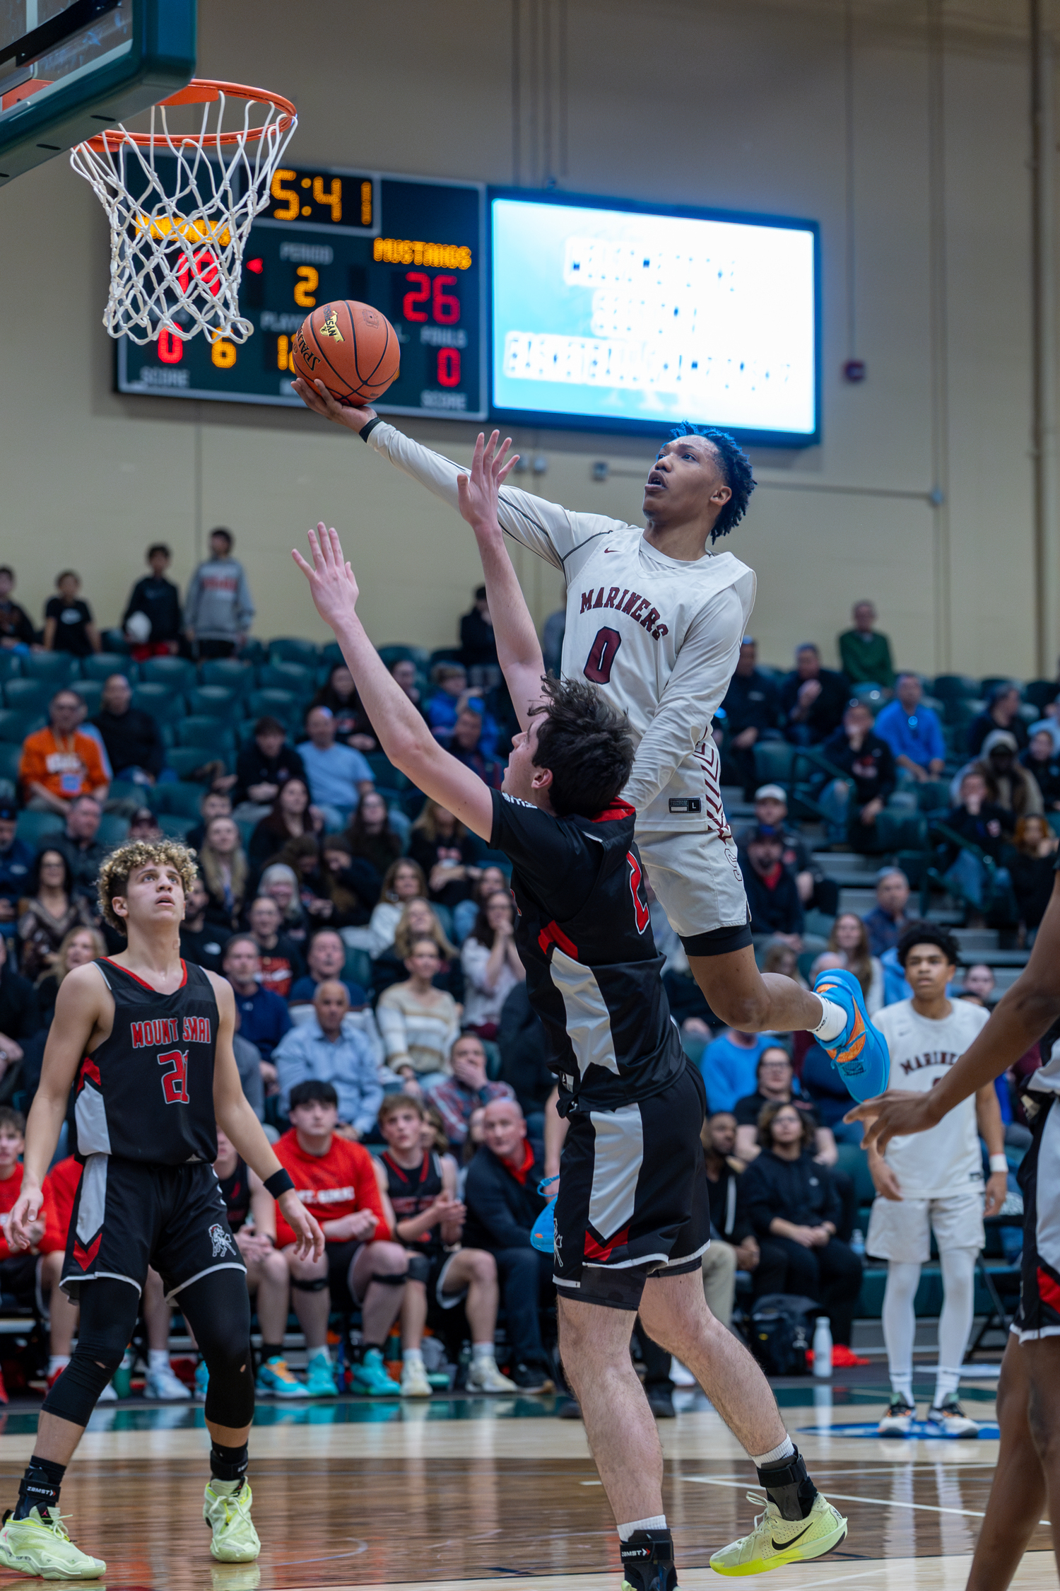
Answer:
[[[758, 1583], [963, 1591], [996, 1441], [807, 1435], [799, 1427], [830, 1418], [876, 1419], [882, 1389], [836, 1384], [831, 1416], [814, 1408], [812, 1386], [780, 1398], [850, 1534], [831, 1558]], [[963, 1389], [961, 1398], [976, 1418], [993, 1418], [988, 1391]], [[723, 1583], [707, 1559], [749, 1527], [755, 1508], [744, 1494], [755, 1476], [699, 1394], [679, 1392], [675, 1402], [677, 1419], [660, 1426], [666, 1507], [682, 1588], [699, 1591]], [[513, 1581], [528, 1591], [618, 1591], [613, 1524], [585, 1432], [551, 1418], [551, 1398], [439, 1398], [259, 1408], [251, 1478], [262, 1554], [253, 1566], [210, 1558], [200, 1408], [97, 1411], [64, 1484], [64, 1510], [75, 1540], [106, 1559], [103, 1583], [122, 1591], [499, 1591]], [[14, 1500], [35, 1427], [30, 1410], [0, 1416], [3, 1507]], [[8, 1580], [17, 1583], [0, 1570]], [[1016, 1585], [1057, 1586], [1047, 1524]]]

